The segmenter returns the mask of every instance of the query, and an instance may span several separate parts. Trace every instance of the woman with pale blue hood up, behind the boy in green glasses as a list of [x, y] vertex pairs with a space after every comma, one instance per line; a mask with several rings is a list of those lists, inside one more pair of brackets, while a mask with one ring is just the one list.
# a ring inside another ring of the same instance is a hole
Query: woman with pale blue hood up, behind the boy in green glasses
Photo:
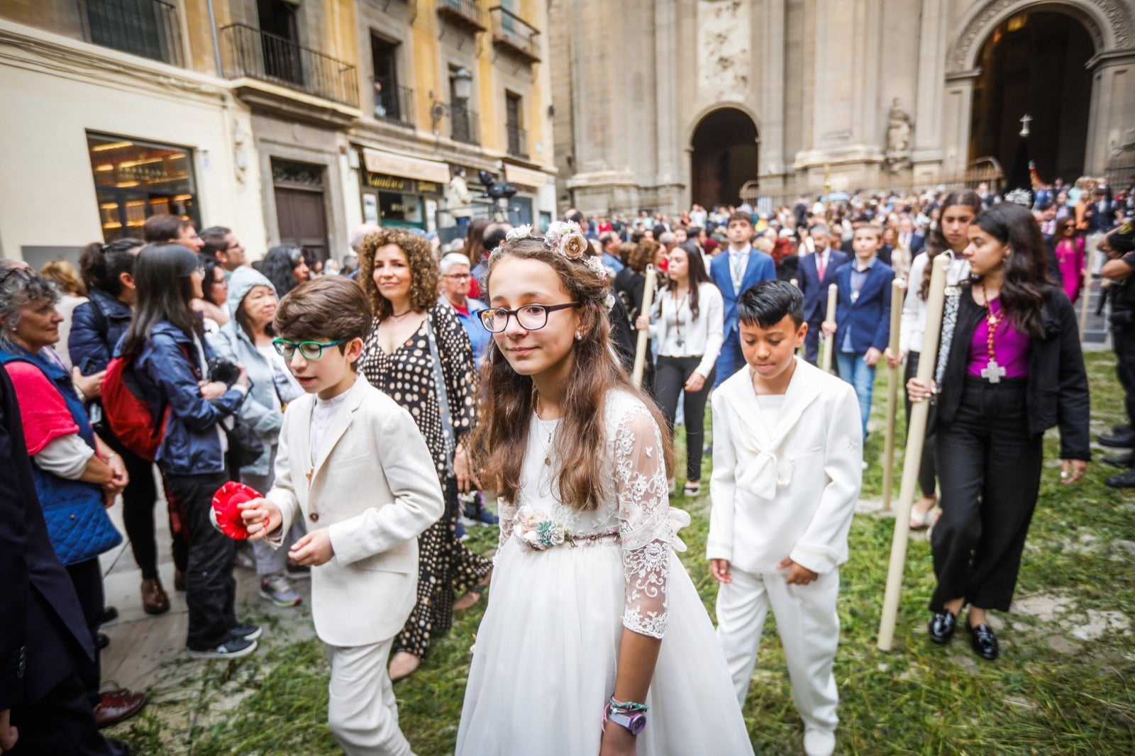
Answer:
[[[303, 388], [272, 346], [276, 337], [272, 320], [278, 303], [276, 287], [257, 270], [244, 267], [233, 271], [228, 292], [229, 320], [209, 338], [209, 344], [222, 359], [247, 369], [249, 395], [241, 405], [241, 419], [263, 443], [263, 451], [241, 465], [239, 479], [264, 494], [275, 479], [272, 471], [280, 426], [284, 423], [284, 408], [303, 396]], [[293, 524], [284, 547], [278, 549], [263, 540], [252, 544], [257, 574], [260, 577], [260, 597], [277, 606], [297, 606], [303, 600], [292, 585], [286, 563], [288, 547], [303, 532], [302, 522]], [[306, 577], [300, 565], [294, 565], [292, 572]]]

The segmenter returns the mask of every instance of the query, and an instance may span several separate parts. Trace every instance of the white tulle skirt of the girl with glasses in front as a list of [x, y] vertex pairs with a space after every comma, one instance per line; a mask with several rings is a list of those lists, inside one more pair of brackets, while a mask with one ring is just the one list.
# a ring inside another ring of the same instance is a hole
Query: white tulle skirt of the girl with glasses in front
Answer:
[[[592, 756], [622, 637], [617, 544], [537, 552], [510, 539], [493, 574], [459, 756]], [[637, 756], [741, 756], [753, 746], [709, 616], [671, 554], [670, 625]]]

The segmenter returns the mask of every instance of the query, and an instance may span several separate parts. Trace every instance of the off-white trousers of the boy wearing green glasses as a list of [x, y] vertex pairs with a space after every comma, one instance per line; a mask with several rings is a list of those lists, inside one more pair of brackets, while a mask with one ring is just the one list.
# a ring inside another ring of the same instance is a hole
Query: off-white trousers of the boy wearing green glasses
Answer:
[[394, 638], [367, 646], [323, 644], [331, 664], [327, 723], [347, 756], [407, 756], [386, 663]]

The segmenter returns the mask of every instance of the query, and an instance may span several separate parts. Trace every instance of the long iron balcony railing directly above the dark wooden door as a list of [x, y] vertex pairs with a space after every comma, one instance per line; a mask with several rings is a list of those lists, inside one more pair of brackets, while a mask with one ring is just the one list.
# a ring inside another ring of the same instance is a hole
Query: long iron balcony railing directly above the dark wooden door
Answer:
[[325, 100], [359, 107], [355, 67], [246, 24], [220, 30], [225, 76], [278, 84]]

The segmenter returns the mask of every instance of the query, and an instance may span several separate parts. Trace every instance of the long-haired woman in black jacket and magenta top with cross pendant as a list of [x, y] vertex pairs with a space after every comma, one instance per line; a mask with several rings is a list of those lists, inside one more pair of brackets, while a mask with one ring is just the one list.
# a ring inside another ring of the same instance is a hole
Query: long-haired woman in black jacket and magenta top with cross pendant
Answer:
[[[1008, 611], [1040, 490], [1044, 431], [1060, 427], [1062, 482], [1087, 468], [1087, 373], [1076, 314], [1046, 276], [1032, 213], [1004, 203], [969, 226], [972, 280], [948, 296], [939, 351], [942, 516], [931, 548], [931, 640], [948, 642], [969, 605], [970, 645], [998, 655], [985, 612]], [[952, 301], [951, 301], [952, 300]], [[907, 381], [913, 402], [930, 392]]]

